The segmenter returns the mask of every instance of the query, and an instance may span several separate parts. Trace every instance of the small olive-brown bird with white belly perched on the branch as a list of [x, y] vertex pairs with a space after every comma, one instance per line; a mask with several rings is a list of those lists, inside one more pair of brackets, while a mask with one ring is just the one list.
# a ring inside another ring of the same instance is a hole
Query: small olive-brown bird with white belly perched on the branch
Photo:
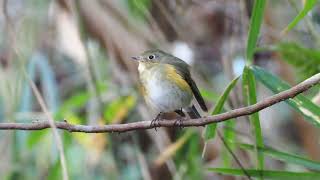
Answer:
[[[145, 102], [158, 113], [151, 125], [160, 120], [163, 113], [168, 112], [176, 112], [185, 117], [185, 111], [190, 118], [199, 118], [200, 114], [191, 104], [193, 97], [203, 111], [208, 111], [191, 78], [190, 67], [183, 60], [161, 50], [145, 51], [132, 59], [139, 62], [139, 77]], [[176, 123], [180, 125], [181, 120], [179, 118]]]

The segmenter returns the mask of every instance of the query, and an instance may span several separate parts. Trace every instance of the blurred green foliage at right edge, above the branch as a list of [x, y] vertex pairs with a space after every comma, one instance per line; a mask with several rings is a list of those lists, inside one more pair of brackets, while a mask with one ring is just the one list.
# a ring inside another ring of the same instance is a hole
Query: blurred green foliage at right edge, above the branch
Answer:
[[296, 43], [280, 43], [272, 50], [277, 51], [281, 60], [298, 69], [302, 78], [320, 72], [320, 51], [300, 46]]

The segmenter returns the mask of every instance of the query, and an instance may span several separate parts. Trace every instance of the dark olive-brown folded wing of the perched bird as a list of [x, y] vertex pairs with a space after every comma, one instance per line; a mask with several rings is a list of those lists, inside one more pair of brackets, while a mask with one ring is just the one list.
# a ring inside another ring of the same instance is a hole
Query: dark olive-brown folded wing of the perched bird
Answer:
[[185, 79], [185, 81], [189, 84], [189, 86], [191, 87], [193, 95], [196, 98], [196, 100], [198, 101], [201, 109], [203, 111], [208, 111], [208, 108], [207, 108], [207, 106], [206, 106], [206, 104], [200, 94], [200, 91], [199, 91], [196, 83], [191, 78], [190, 71], [189, 71], [189, 65], [186, 62], [182, 61], [181, 59], [178, 59], [175, 57], [171, 60], [168, 60], [165, 63], [171, 64], [175, 67], [177, 73], [179, 73]]

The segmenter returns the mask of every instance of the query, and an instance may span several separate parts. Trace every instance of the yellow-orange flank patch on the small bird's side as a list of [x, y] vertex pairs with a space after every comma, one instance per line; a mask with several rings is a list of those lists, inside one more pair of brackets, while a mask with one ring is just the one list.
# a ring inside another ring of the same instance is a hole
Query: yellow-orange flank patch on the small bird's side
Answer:
[[165, 65], [165, 66], [166, 66], [165, 69], [166, 69], [166, 74], [167, 74], [168, 80], [177, 84], [181, 90], [189, 91], [189, 93], [191, 94], [192, 92], [191, 92], [191, 88], [190, 88], [189, 84], [187, 83], [186, 80], [184, 80], [182, 78], [182, 76], [180, 74], [177, 73], [174, 66], [172, 66], [172, 65]]

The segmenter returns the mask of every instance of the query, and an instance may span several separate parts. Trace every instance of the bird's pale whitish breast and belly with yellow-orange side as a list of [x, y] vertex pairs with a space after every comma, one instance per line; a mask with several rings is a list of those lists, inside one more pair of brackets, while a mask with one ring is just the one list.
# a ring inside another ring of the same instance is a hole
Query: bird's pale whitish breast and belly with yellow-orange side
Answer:
[[145, 100], [152, 108], [171, 112], [190, 105], [193, 97], [190, 86], [171, 65], [139, 64], [138, 69]]

